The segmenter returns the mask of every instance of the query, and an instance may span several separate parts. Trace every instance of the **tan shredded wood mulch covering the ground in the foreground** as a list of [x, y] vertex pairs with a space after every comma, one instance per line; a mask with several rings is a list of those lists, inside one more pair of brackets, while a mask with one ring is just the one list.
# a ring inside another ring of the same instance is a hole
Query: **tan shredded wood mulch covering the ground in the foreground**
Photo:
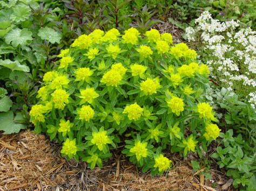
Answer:
[[[113, 157], [102, 169], [91, 170], [85, 162], [66, 161], [60, 156], [58, 144], [27, 130], [0, 138], [0, 190], [217, 189], [211, 187], [211, 181], [200, 180], [202, 177], [194, 173], [188, 162], [173, 162], [169, 172], [154, 178], [149, 173], [141, 173], [123, 155], [119, 159]], [[223, 175], [211, 173], [215, 182], [226, 182]]]

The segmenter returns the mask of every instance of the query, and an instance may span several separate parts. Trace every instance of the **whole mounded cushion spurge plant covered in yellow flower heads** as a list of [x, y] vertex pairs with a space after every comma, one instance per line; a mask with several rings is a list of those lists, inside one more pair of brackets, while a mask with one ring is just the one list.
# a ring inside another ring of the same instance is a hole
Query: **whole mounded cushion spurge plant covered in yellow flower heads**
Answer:
[[143, 171], [161, 174], [172, 164], [164, 153], [202, 156], [219, 136], [205, 98], [210, 72], [196, 56], [154, 29], [83, 34], [44, 74], [31, 122], [63, 143], [68, 159], [102, 167], [118, 147]]

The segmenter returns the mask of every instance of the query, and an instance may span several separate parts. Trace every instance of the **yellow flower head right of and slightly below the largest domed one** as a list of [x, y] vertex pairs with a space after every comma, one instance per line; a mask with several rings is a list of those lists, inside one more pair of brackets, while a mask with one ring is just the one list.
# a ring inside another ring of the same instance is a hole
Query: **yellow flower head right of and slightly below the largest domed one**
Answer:
[[147, 78], [145, 81], [140, 83], [140, 90], [146, 95], [152, 95], [157, 93], [157, 89], [160, 88], [160, 83], [158, 78], [150, 79]]

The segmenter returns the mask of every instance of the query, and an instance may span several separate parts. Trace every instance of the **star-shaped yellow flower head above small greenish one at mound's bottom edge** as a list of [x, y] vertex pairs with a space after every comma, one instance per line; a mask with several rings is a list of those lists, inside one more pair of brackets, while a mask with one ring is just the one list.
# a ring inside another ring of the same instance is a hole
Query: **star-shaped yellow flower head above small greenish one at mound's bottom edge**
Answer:
[[91, 143], [97, 145], [100, 151], [103, 150], [103, 145], [112, 143], [112, 140], [107, 137], [107, 131], [92, 132]]

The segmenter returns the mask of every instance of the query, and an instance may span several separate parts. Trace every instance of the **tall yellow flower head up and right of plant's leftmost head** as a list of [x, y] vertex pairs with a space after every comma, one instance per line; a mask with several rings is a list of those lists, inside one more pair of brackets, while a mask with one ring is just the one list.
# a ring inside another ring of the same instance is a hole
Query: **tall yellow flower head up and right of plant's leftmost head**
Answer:
[[56, 89], [52, 93], [52, 102], [54, 108], [64, 109], [65, 103], [69, 103], [69, 94], [63, 89]]

